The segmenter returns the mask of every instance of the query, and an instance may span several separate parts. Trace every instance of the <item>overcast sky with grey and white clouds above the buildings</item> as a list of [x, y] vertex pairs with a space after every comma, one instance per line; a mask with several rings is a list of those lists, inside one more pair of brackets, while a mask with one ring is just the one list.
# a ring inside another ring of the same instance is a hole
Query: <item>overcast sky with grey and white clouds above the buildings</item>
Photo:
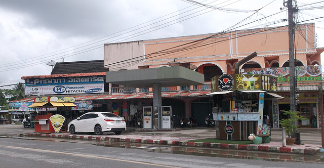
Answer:
[[[323, 17], [324, 1], [298, 7], [299, 22]], [[282, 0], [1, 0], [0, 89], [50, 74], [51, 60], [102, 60], [105, 43], [288, 25], [283, 19]], [[323, 48], [324, 18], [302, 23], [315, 23]]]

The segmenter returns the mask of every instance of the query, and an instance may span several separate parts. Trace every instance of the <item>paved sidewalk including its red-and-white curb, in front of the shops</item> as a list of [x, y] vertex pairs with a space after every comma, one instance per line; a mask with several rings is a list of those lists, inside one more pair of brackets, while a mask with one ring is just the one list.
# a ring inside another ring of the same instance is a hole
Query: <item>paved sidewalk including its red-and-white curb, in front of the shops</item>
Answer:
[[[0, 126], [1, 127], [1, 126]], [[21, 126], [22, 127], [22, 126]], [[187, 147], [204, 147], [219, 148], [232, 150], [247, 150], [274, 153], [292, 153], [292, 154], [308, 154], [313, 155], [321, 151], [321, 134], [320, 130], [300, 130], [301, 140], [304, 145], [293, 145], [282, 147], [281, 129], [271, 130], [271, 142], [265, 144], [236, 145], [236, 144], [218, 144], [218, 143], [199, 143], [187, 142], [189, 140], [216, 138], [215, 128], [184, 128], [170, 130], [144, 130], [129, 127], [128, 131], [121, 135], [114, 133], [104, 133], [102, 136], [89, 134], [71, 135], [67, 132], [59, 134], [41, 134], [41, 133], [24, 133], [21, 136], [29, 137], [53, 137], [53, 138], [69, 138], [84, 140], [101, 140], [114, 142], [131, 142], [144, 144], [161, 144], [172, 146]]]

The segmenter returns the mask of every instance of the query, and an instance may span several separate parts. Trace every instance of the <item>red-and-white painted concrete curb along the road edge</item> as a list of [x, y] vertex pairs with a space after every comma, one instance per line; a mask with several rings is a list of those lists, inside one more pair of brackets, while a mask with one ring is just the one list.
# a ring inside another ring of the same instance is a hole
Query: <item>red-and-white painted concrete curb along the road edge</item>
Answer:
[[237, 144], [219, 144], [219, 143], [207, 143], [207, 142], [165, 141], [165, 140], [150, 140], [150, 139], [112, 138], [112, 137], [102, 137], [102, 136], [41, 134], [41, 133], [28, 133], [27, 136], [28, 137], [70, 138], [70, 139], [80, 139], [80, 140], [101, 140], [101, 141], [130, 142], [130, 143], [143, 143], [143, 144], [159, 144], [159, 145], [186, 146], [186, 147], [234, 149], [234, 150], [248, 150], [248, 151], [273, 152], [273, 153], [306, 154], [306, 155], [313, 155], [320, 152], [320, 148], [318, 147], [306, 148], [306, 149], [295, 149], [290, 147], [271, 147], [271, 146], [263, 146], [263, 145], [237, 145]]

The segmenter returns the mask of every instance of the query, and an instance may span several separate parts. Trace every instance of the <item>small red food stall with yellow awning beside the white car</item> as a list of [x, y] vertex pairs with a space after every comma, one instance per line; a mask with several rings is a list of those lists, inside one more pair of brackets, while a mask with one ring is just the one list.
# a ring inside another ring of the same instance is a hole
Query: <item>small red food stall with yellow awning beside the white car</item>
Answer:
[[[58, 133], [61, 132], [65, 118], [63, 116], [53, 115], [49, 113], [48, 109], [53, 107], [66, 107], [71, 111], [71, 107], [76, 107], [74, 97], [57, 97], [57, 96], [43, 96], [34, 98], [34, 104], [31, 108], [46, 108], [46, 112], [42, 115], [36, 115], [34, 122], [35, 133]], [[63, 119], [63, 118], [64, 119]]]

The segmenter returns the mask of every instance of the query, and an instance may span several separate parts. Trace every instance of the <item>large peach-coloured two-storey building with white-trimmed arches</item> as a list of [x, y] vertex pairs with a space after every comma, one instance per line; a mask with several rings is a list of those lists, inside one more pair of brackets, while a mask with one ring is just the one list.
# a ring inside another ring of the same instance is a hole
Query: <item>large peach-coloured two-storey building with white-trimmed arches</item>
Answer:
[[[314, 26], [302, 24], [295, 27], [296, 66], [301, 67], [302, 73], [297, 82], [300, 95], [298, 108], [308, 118], [300, 123], [306, 128], [319, 128], [321, 69], [317, 65], [320, 65], [320, 54], [324, 49], [316, 48]], [[173, 96], [163, 97], [163, 105], [172, 105], [175, 115], [185, 118], [195, 116], [198, 124], [203, 124], [203, 119], [211, 113], [211, 107], [215, 106], [211, 97], [202, 94], [211, 92], [211, 78], [224, 73], [234, 74], [235, 64], [253, 52], [257, 52], [258, 56], [241, 65], [240, 73], [286, 70], [290, 61], [288, 39], [288, 26], [282, 26], [105, 44], [104, 65], [109, 71], [185, 66], [203, 73], [205, 85], [166, 87], [162, 90], [165, 94], [173, 93]], [[317, 70], [316, 74], [306, 74], [313, 67]], [[278, 127], [278, 119], [285, 117], [280, 110], [290, 109], [289, 81], [285, 75], [281, 75], [277, 89], [277, 94], [285, 99], [269, 101], [265, 105], [264, 114], [269, 116], [268, 122], [275, 128]], [[110, 86], [111, 89], [118, 87], [121, 86]], [[151, 89], [136, 91], [136, 94], [149, 94]], [[110, 92], [114, 94], [112, 90]], [[174, 96], [177, 94], [181, 96]], [[144, 102], [150, 105], [149, 100]]]

